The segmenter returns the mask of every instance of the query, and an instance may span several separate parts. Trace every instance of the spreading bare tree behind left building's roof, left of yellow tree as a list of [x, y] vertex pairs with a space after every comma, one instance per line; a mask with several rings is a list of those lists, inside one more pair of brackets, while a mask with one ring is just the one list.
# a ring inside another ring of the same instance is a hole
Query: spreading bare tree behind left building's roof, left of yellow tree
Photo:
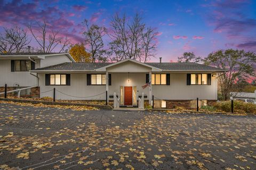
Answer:
[[60, 47], [59, 52], [65, 52], [65, 48], [70, 45], [67, 36], [65, 38], [59, 37], [58, 34], [60, 31], [48, 28], [45, 21], [43, 23], [30, 23], [28, 29], [39, 45], [40, 51], [43, 53], [51, 53], [56, 47]]

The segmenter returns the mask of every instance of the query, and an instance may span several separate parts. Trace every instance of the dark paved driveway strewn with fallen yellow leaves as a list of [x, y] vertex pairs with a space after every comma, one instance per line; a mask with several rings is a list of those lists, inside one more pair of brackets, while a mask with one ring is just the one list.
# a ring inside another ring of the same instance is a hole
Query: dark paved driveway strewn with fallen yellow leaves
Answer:
[[0, 169], [256, 169], [256, 116], [0, 103]]

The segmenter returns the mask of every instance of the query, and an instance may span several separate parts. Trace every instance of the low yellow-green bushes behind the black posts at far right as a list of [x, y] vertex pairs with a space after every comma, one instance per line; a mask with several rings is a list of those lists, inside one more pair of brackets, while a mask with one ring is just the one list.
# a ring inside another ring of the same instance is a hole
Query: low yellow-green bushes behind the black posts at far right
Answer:
[[[220, 101], [214, 105], [215, 108], [224, 111], [231, 112], [231, 101]], [[253, 103], [245, 103], [243, 101], [234, 100], [234, 112], [238, 113], [256, 113], [256, 105]]]

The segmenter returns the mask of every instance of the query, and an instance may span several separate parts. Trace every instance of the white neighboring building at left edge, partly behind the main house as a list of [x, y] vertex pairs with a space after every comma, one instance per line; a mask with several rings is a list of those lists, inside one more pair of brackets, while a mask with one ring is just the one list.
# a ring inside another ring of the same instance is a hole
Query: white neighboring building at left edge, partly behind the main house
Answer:
[[[60, 63], [75, 62], [68, 53], [0, 53], [0, 92], [38, 86], [37, 75], [30, 70]], [[39, 88], [23, 90], [23, 95], [39, 94]]]

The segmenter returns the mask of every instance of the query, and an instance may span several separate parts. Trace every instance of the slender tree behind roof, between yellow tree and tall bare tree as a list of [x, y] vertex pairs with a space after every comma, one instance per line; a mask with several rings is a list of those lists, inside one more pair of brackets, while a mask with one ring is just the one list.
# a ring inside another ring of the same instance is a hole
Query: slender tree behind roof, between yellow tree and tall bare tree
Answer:
[[96, 24], [90, 26], [88, 20], [84, 20], [84, 25], [86, 27], [86, 30], [83, 32], [85, 45], [89, 46], [92, 62], [95, 60], [100, 62], [104, 60], [102, 55], [105, 53], [105, 50], [103, 50], [104, 44], [102, 37], [106, 35], [107, 29], [105, 27], [99, 27]]

